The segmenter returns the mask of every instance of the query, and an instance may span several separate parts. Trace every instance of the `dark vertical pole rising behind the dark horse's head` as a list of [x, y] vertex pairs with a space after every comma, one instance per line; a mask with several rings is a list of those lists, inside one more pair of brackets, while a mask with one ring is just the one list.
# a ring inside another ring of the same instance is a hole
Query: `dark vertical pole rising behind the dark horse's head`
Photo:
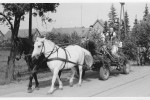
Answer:
[[29, 11], [29, 39], [32, 40], [32, 3], [30, 3]]

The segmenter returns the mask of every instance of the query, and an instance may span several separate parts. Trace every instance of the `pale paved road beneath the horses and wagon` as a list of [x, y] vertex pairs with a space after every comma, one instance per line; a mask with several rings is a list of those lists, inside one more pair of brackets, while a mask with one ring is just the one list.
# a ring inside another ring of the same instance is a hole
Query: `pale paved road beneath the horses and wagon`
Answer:
[[[69, 74], [62, 76], [64, 89], [47, 95], [50, 88], [50, 79], [40, 79], [40, 90], [27, 93], [27, 81], [0, 86], [0, 96], [3, 97], [150, 97], [150, 66], [131, 67], [128, 75], [118, 74], [113, 71], [106, 81], [98, 80], [98, 73], [86, 72], [82, 86], [69, 87], [66, 78]], [[58, 86], [56, 86], [58, 88]]]

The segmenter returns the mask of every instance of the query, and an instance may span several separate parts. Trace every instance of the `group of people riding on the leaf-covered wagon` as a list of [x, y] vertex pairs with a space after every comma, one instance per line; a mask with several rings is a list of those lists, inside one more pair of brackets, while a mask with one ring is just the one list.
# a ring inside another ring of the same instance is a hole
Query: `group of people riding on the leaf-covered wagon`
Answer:
[[[96, 32], [95, 32], [96, 31]], [[94, 30], [92, 26], [89, 28], [89, 32], [87, 33], [86, 40], [93, 40], [93, 34], [98, 34], [98, 39], [100, 39], [103, 44], [104, 49], [109, 51], [109, 54], [112, 57], [118, 58], [118, 49], [122, 47], [122, 42], [119, 41], [114, 28], [110, 28], [107, 32], [102, 32], [100, 29]]]

